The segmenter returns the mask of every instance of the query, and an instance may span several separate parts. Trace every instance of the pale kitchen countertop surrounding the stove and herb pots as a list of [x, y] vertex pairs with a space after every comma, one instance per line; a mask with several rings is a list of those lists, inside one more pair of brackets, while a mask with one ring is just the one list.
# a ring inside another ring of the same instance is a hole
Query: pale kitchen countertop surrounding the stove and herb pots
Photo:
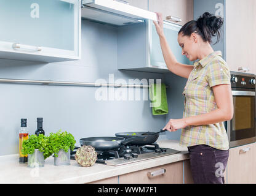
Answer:
[[44, 167], [29, 168], [27, 164], [18, 163], [18, 154], [0, 156], [0, 183], [90, 183], [189, 159], [187, 148], [179, 146], [176, 140], [161, 140], [158, 144], [161, 148], [172, 148], [181, 152], [132, 164], [94, 164], [92, 167], [81, 167], [75, 160], [70, 160], [71, 165], [55, 166], [54, 157], [51, 156], [46, 159]]

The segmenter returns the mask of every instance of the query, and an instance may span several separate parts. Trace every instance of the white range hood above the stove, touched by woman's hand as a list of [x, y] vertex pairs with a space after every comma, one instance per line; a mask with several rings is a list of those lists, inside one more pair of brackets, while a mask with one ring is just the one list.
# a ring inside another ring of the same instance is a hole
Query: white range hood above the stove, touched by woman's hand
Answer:
[[157, 21], [156, 13], [116, 0], [82, 0], [82, 18], [114, 26]]

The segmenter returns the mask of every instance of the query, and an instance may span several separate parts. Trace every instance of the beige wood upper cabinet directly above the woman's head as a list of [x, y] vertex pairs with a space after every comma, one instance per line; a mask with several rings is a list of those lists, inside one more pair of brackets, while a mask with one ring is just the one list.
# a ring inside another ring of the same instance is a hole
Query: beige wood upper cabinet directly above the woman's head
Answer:
[[193, 0], [148, 0], [148, 10], [162, 13], [163, 20], [173, 17], [170, 21], [175, 22], [175, 18], [180, 18], [179, 25], [193, 20]]

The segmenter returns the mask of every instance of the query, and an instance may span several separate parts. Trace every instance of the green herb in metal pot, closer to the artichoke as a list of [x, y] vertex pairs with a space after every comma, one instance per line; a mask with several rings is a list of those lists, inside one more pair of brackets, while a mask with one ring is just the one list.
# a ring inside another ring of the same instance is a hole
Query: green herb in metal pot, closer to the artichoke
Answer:
[[74, 149], [76, 140], [72, 134], [58, 130], [57, 133], [50, 133], [48, 145], [54, 153], [54, 165], [70, 165], [70, 151]]

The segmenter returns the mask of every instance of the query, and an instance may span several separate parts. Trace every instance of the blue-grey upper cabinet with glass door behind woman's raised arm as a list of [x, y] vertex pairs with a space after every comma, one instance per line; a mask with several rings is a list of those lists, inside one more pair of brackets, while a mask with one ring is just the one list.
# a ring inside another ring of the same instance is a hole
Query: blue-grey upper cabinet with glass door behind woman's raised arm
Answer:
[[[191, 64], [178, 45], [182, 26], [164, 21], [164, 34], [178, 62]], [[159, 36], [151, 20], [143, 24], [118, 28], [118, 69], [169, 73], [164, 61]]]

